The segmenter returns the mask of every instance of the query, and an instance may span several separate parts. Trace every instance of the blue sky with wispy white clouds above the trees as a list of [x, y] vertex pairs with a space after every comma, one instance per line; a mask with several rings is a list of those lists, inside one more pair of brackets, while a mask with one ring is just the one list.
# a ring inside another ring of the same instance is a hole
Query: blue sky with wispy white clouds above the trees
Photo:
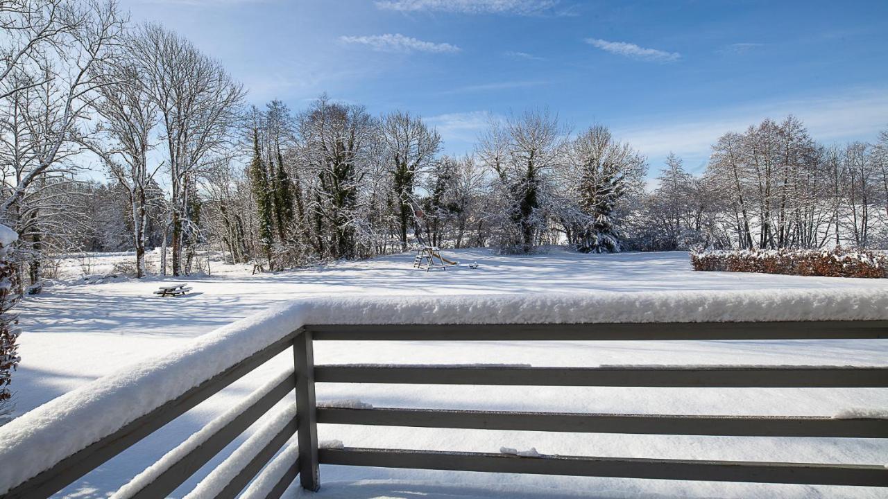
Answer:
[[710, 145], [794, 114], [814, 139], [888, 128], [888, 1], [123, 0], [219, 59], [250, 101], [326, 91], [472, 148], [489, 115], [549, 107], [700, 172]]

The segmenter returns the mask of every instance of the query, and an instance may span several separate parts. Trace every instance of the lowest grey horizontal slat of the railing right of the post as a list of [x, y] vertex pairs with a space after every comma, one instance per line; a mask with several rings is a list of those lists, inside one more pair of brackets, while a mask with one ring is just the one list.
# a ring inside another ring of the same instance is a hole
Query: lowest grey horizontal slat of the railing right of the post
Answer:
[[717, 480], [808, 485], [888, 486], [888, 469], [871, 464], [755, 463], [689, 461], [625, 457], [543, 456], [396, 450], [321, 448], [322, 464], [414, 468], [424, 470], [487, 471], [620, 477], [633, 479]]

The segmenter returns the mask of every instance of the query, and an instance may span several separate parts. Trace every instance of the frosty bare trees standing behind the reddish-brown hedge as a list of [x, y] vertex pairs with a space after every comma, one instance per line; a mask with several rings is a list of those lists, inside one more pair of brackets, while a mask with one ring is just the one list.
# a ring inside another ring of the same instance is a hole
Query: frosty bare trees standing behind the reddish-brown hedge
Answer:
[[633, 225], [639, 249], [888, 248], [888, 130], [817, 143], [797, 118], [712, 146], [701, 177], [674, 156]]

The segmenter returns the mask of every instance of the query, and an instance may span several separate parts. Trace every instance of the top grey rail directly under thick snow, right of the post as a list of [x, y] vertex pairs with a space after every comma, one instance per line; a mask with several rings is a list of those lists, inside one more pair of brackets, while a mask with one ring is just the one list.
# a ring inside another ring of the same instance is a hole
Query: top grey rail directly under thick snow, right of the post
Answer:
[[315, 340], [611, 341], [888, 338], [888, 321], [635, 322], [597, 324], [333, 324]]

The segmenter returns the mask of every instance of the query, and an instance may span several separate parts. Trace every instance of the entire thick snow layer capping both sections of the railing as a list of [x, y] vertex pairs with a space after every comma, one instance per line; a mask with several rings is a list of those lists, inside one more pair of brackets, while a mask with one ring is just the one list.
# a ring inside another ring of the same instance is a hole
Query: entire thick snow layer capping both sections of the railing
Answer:
[[305, 324], [888, 320], [882, 289], [296, 300], [99, 378], [0, 426], [0, 495]]

